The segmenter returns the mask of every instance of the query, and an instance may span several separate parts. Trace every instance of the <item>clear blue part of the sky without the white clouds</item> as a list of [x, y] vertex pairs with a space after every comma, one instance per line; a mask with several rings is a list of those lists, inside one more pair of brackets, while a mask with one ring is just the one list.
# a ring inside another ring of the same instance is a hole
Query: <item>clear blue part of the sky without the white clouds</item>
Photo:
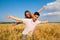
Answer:
[[[15, 21], [6, 18], [8, 13], [16, 17], [24, 18], [25, 10], [29, 10], [31, 13], [33, 13], [43, 5], [47, 5], [48, 3], [55, 1], [56, 0], [0, 0], [0, 22]], [[43, 10], [41, 12], [41, 14], [44, 13], [47, 13], [47, 10]], [[48, 20], [49, 18], [50, 17], [47, 16], [45, 16], [45, 18], [41, 16], [39, 20]], [[53, 21], [51, 18], [49, 20]]]

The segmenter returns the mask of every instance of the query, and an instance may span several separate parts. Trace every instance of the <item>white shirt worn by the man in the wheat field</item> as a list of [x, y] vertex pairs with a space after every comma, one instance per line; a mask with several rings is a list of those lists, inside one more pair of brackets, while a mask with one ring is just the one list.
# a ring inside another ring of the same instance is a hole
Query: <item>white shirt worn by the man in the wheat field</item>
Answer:
[[36, 20], [35, 22], [33, 22], [32, 19], [22, 19], [22, 21], [25, 24], [24, 31], [22, 32], [22, 34], [24, 35], [27, 35], [29, 32], [31, 32], [32, 34], [35, 29], [35, 26], [41, 23], [41, 21], [39, 20]]

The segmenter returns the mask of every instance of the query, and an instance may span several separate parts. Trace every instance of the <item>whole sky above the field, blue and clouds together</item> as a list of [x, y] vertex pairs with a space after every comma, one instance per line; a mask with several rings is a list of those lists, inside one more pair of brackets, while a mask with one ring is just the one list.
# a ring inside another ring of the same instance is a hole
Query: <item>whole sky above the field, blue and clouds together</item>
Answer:
[[29, 10], [36, 12], [43, 5], [46, 9], [40, 12], [39, 20], [48, 20], [49, 22], [60, 22], [60, 1], [59, 0], [0, 0], [0, 22], [13, 22], [15, 20], [7, 19], [6, 15], [24, 18], [24, 12]]

